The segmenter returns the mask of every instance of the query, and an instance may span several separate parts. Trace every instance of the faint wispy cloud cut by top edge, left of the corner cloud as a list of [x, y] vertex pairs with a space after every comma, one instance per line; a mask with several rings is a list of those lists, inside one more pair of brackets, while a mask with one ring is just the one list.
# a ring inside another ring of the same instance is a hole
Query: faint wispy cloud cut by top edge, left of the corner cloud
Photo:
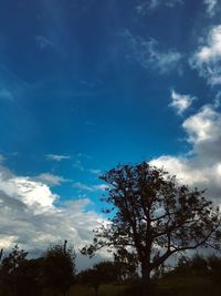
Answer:
[[138, 14], [146, 14], [149, 11], [156, 10], [157, 8], [165, 6], [168, 8], [173, 8], [176, 4], [182, 4], [182, 0], [149, 0], [144, 1], [136, 6]]

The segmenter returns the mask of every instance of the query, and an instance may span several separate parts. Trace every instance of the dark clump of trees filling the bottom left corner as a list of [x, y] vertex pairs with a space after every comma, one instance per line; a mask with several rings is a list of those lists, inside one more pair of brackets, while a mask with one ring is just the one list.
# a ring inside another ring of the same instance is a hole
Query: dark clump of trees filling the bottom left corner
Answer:
[[1, 296], [66, 295], [76, 277], [75, 252], [66, 242], [50, 246], [39, 258], [28, 259], [19, 248], [2, 256], [0, 263]]

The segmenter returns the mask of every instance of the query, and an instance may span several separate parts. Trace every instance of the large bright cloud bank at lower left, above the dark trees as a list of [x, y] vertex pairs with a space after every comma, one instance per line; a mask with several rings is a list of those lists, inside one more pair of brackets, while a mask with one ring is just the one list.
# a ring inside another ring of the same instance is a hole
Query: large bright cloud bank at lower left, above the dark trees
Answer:
[[90, 205], [88, 198], [62, 202], [50, 186], [0, 166], [0, 248], [19, 244], [41, 255], [50, 243], [67, 239], [78, 249], [105, 222]]

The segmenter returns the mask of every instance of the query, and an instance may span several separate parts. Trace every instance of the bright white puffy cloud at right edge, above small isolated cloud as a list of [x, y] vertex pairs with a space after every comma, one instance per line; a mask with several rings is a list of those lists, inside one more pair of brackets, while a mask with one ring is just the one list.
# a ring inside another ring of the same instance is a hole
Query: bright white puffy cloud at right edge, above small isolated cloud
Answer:
[[213, 27], [203, 43], [191, 57], [190, 65], [210, 85], [221, 84], [221, 25]]

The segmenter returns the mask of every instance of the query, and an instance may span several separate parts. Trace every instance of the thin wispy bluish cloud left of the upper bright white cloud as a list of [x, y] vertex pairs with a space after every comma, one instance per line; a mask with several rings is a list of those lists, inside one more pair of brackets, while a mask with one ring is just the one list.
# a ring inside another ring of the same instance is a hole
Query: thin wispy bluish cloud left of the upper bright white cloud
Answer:
[[180, 71], [179, 62], [182, 54], [175, 49], [162, 50], [155, 39], [145, 40], [134, 37], [127, 29], [122, 33], [126, 38], [131, 54], [130, 60], [135, 60], [145, 69], [154, 69], [160, 74], [169, 73], [172, 70]]

